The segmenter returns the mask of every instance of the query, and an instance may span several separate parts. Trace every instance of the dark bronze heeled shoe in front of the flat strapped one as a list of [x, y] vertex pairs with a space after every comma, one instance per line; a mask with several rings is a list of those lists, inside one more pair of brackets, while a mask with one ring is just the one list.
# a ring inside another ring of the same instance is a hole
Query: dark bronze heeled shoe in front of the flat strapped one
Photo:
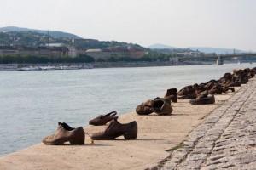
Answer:
[[103, 132], [92, 134], [91, 139], [106, 140], [115, 139], [119, 136], [124, 136], [125, 139], [137, 139], [137, 122], [121, 124], [113, 119]]

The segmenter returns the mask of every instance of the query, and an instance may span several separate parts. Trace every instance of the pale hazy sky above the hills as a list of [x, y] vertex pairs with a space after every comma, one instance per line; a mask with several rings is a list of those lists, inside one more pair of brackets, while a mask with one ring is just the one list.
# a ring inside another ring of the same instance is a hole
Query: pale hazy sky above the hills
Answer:
[[256, 51], [256, 0], [0, 0], [0, 27], [102, 41]]

